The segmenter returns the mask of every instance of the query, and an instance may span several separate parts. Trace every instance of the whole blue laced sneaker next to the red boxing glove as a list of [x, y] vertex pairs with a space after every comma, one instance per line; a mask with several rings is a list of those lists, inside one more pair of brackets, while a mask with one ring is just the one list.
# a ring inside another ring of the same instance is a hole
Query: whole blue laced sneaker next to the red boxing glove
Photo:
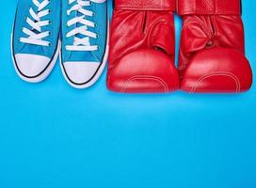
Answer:
[[108, 55], [106, 0], [62, 0], [61, 69], [75, 88], [92, 86]]

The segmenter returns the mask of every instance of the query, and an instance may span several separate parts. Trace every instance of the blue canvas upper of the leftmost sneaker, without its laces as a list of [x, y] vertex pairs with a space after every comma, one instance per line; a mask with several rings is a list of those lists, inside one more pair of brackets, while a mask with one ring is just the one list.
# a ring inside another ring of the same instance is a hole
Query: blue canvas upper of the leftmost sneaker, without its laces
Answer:
[[[42, 1], [42, 0], [41, 0]], [[41, 2], [39, 1], [39, 2]], [[31, 25], [27, 24], [26, 19], [33, 20], [29, 13], [29, 9], [33, 8], [34, 11], [37, 7], [33, 4], [32, 0], [20, 0], [16, 10], [15, 23], [13, 26], [13, 54], [31, 54], [31, 55], [44, 55], [51, 58], [56, 53], [58, 43], [59, 30], [60, 30], [60, 1], [51, 0], [50, 4], [46, 7], [51, 12], [43, 17], [43, 20], [49, 20], [51, 24], [41, 27], [41, 32], [49, 31], [50, 35], [45, 40], [51, 43], [50, 46], [41, 46], [36, 44], [28, 44], [21, 42], [21, 38], [26, 38], [23, 28], [32, 29]]]

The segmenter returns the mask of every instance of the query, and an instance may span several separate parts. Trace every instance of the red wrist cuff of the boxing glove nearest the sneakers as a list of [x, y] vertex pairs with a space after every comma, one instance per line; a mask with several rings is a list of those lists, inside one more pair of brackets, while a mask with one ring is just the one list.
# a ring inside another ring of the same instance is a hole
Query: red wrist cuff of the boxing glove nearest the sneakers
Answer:
[[175, 0], [115, 0], [115, 9], [175, 10]]

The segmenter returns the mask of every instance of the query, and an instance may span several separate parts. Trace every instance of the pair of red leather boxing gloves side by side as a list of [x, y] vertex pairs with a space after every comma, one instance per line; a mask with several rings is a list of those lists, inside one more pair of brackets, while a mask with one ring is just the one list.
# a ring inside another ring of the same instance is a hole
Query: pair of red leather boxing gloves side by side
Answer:
[[[115, 0], [107, 87], [116, 92], [247, 91], [240, 0]], [[175, 67], [173, 12], [183, 17]]]

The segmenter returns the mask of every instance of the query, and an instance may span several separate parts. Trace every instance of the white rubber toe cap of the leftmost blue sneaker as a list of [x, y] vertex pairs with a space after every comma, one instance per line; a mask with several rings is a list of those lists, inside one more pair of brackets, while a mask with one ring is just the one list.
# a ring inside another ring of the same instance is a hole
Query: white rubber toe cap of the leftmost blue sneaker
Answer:
[[51, 59], [41, 55], [15, 55], [17, 69], [25, 77], [37, 77], [47, 68]]

